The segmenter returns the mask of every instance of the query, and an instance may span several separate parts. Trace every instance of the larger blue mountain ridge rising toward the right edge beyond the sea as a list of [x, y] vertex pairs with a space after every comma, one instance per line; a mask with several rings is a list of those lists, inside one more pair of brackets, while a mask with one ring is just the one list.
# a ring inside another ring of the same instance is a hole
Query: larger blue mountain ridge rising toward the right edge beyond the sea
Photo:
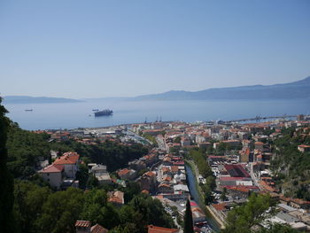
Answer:
[[136, 100], [191, 99], [296, 99], [310, 98], [310, 76], [298, 82], [275, 85], [254, 85], [199, 91], [170, 90], [165, 93], [134, 97]]

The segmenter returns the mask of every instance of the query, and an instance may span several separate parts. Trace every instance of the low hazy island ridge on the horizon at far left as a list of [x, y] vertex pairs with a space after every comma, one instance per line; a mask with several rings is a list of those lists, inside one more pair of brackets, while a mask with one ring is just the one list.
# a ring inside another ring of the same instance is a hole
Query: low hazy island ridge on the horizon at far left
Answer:
[[80, 100], [62, 97], [28, 97], [28, 96], [7, 96], [4, 97], [4, 104], [53, 104], [53, 103], [74, 103]]

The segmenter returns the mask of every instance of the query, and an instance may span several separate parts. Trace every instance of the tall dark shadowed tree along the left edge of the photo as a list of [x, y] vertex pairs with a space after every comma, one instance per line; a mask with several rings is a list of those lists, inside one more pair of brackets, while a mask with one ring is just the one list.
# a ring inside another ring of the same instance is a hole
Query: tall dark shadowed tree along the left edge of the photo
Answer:
[[13, 179], [7, 169], [7, 149], [6, 140], [9, 128], [9, 120], [5, 117], [8, 113], [3, 105], [0, 97], [0, 231], [13, 232], [14, 222], [12, 207], [14, 202], [13, 196]]

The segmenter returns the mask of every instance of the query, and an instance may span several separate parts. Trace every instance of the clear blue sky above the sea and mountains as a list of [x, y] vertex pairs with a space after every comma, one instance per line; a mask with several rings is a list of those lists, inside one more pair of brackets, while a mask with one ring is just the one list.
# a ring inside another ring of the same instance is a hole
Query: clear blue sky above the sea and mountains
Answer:
[[310, 75], [308, 0], [0, 1], [0, 94], [131, 97]]

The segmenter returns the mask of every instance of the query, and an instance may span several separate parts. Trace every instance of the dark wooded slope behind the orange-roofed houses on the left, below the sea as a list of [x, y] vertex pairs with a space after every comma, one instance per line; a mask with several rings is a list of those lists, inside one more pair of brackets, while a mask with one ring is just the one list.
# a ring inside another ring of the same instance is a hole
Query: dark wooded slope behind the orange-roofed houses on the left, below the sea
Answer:
[[11, 123], [8, 130], [7, 167], [14, 177], [29, 178], [35, 175], [35, 168], [43, 159], [50, 159], [50, 150], [78, 152], [88, 162], [104, 164], [109, 171], [125, 167], [128, 161], [138, 159], [148, 152], [142, 144], [122, 145], [106, 141], [97, 144], [81, 144], [68, 140], [48, 143], [48, 134], [35, 134]]

